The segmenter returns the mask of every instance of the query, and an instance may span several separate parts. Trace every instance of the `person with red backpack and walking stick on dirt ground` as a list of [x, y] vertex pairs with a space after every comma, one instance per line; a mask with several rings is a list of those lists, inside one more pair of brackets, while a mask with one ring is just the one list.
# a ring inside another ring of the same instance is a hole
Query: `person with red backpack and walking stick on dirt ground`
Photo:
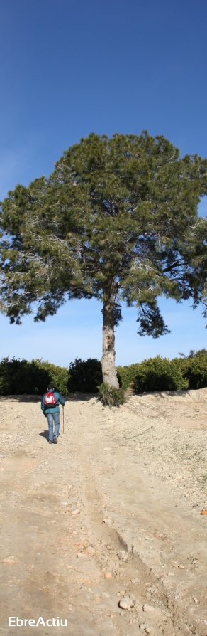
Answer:
[[[53, 384], [47, 387], [47, 393], [44, 393], [41, 401], [41, 409], [45, 418], [47, 418], [49, 429], [49, 444], [57, 444], [57, 438], [60, 428], [60, 407], [65, 406], [65, 399], [59, 391], [55, 391]], [[53, 433], [53, 423], [55, 424], [55, 432]]]

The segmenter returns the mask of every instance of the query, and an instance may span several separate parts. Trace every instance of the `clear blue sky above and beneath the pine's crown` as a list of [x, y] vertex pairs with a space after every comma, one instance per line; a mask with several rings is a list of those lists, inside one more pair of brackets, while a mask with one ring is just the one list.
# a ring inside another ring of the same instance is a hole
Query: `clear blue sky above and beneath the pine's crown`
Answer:
[[[164, 134], [182, 154], [207, 156], [206, 0], [0, 0], [0, 198], [50, 174], [89, 132]], [[207, 214], [206, 200], [200, 213]], [[206, 346], [201, 309], [160, 300], [171, 334], [137, 335], [123, 310], [116, 362]], [[67, 365], [101, 358], [101, 305], [67, 303], [21, 327], [0, 316], [3, 356]]]

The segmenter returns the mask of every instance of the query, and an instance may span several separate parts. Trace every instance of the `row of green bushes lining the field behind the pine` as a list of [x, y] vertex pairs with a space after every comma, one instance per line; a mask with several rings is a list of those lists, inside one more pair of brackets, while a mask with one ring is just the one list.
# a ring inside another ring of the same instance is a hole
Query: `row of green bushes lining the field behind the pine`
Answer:
[[[133, 382], [136, 393], [203, 388], [207, 386], [207, 351], [192, 351], [187, 357], [173, 360], [156, 356], [118, 366], [117, 374], [120, 386], [126, 390]], [[74, 391], [96, 393], [102, 381], [101, 363], [95, 358], [77, 358], [68, 368], [39, 359], [28, 362], [4, 358], [0, 362], [1, 395], [42, 395], [50, 382], [62, 395]]]

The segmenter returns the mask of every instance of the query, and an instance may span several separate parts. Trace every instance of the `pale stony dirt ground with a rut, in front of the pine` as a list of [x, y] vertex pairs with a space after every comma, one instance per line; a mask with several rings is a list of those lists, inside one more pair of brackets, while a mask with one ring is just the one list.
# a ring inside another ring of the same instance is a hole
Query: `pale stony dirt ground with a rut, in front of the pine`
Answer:
[[2, 634], [207, 635], [206, 401], [74, 396], [49, 445], [40, 403], [1, 398]]

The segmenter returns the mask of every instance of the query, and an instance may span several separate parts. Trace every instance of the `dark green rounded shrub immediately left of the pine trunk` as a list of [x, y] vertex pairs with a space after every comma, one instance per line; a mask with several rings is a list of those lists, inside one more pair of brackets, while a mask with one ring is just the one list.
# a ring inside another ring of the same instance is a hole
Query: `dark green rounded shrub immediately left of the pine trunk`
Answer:
[[83, 393], [97, 393], [98, 384], [103, 381], [101, 362], [96, 358], [81, 360], [76, 358], [69, 364], [69, 379], [67, 389], [69, 393], [82, 391]]

